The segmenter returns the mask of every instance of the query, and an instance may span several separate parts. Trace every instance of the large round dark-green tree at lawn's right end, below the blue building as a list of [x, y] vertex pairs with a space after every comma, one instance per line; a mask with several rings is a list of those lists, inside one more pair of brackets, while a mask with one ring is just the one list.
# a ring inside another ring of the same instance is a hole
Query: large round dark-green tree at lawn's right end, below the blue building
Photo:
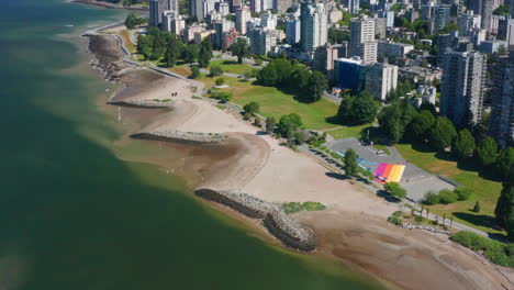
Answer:
[[367, 124], [375, 121], [378, 109], [379, 103], [365, 90], [356, 97], [345, 94], [337, 111], [337, 119], [351, 125]]

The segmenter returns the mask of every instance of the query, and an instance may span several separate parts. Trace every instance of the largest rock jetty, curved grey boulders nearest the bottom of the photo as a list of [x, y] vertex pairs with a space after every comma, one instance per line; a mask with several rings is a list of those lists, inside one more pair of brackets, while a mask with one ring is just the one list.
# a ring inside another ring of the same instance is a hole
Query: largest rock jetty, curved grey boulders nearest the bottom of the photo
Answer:
[[316, 248], [315, 234], [310, 228], [302, 226], [293, 217], [287, 215], [278, 204], [241, 192], [199, 189], [194, 193], [198, 197], [230, 207], [246, 216], [262, 220], [262, 224], [269, 233], [289, 247], [304, 252]]

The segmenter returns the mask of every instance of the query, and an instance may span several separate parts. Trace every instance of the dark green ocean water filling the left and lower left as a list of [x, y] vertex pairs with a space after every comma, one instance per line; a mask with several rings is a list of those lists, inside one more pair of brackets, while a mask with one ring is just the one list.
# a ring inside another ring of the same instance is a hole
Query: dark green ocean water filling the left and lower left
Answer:
[[105, 146], [122, 134], [96, 107], [110, 85], [83, 68], [69, 35], [125, 12], [1, 3], [0, 289], [375, 288], [267, 245], [180, 179]]

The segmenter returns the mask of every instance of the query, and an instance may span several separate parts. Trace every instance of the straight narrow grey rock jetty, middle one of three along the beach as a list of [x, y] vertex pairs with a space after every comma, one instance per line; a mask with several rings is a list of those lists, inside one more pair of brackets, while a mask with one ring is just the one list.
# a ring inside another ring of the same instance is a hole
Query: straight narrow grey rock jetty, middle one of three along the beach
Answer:
[[143, 138], [143, 140], [168, 141], [168, 142], [171, 141], [171, 142], [216, 144], [216, 143], [224, 142], [226, 138], [228, 138], [228, 135], [168, 130], [168, 131], [136, 133], [136, 134], [132, 134], [131, 137]]

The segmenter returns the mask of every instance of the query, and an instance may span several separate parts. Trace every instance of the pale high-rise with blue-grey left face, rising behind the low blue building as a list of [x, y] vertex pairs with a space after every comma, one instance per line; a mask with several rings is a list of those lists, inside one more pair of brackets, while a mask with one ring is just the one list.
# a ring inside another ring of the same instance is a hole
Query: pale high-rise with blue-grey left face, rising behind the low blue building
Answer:
[[350, 22], [350, 56], [359, 56], [364, 62], [377, 62], [377, 42], [375, 41], [375, 21], [366, 15]]

